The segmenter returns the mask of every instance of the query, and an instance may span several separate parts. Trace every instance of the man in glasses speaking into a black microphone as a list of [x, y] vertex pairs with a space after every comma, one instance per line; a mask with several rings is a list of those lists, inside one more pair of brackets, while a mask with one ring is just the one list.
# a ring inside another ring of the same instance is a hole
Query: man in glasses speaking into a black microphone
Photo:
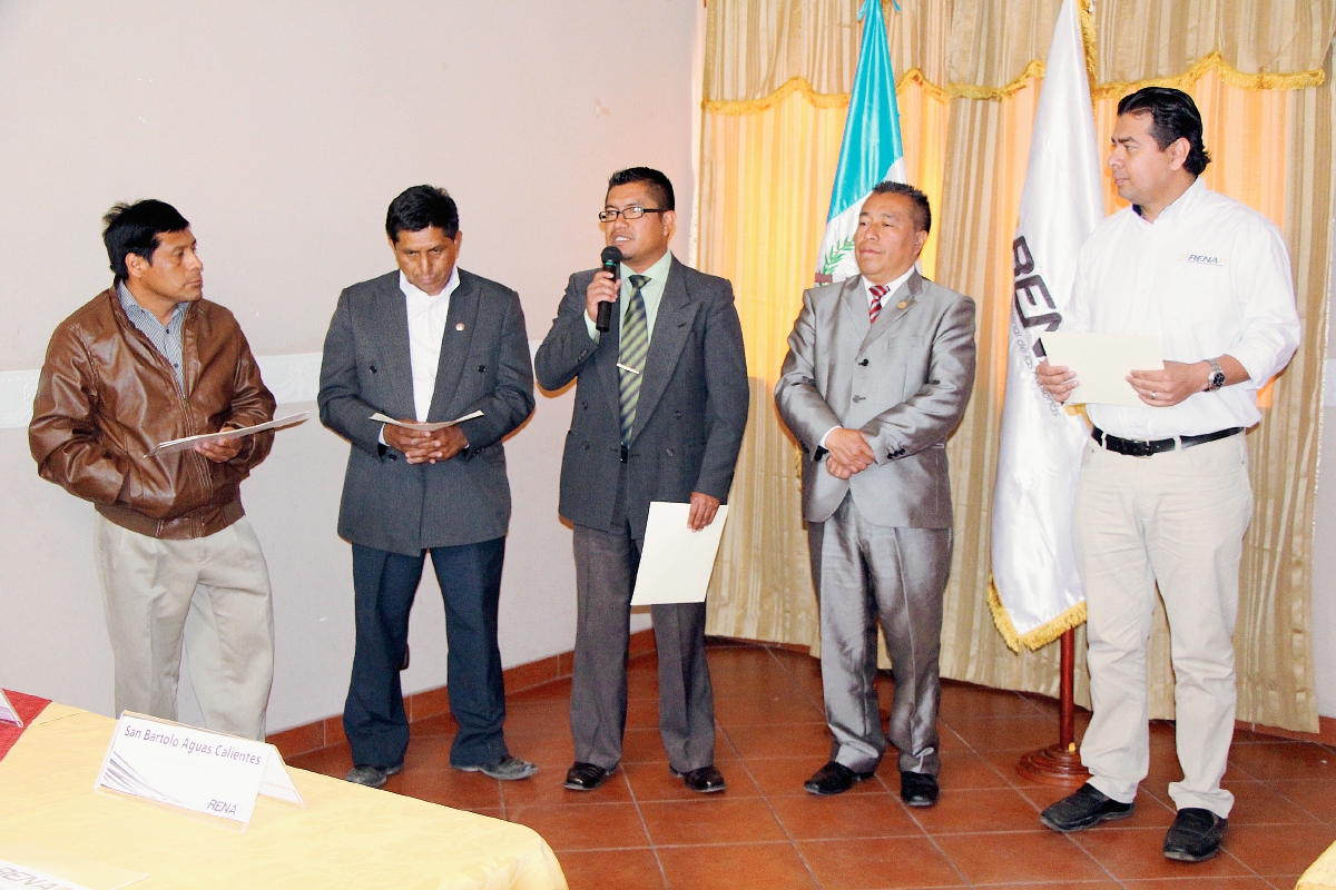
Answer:
[[[560, 502], [574, 524], [576, 763], [565, 786], [576, 791], [597, 789], [621, 761], [631, 592], [649, 503], [689, 502], [688, 526], [697, 531], [713, 522], [732, 484], [748, 402], [732, 286], [668, 251], [676, 226], [668, 177], [648, 167], [613, 173], [599, 219], [608, 246], [621, 250], [620, 275], [572, 275], [534, 358], [544, 388], [578, 380]], [[596, 327], [600, 303], [613, 303], [607, 332]], [[693, 791], [723, 791], [705, 604], [653, 606], [652, 615], [668, 766]]]

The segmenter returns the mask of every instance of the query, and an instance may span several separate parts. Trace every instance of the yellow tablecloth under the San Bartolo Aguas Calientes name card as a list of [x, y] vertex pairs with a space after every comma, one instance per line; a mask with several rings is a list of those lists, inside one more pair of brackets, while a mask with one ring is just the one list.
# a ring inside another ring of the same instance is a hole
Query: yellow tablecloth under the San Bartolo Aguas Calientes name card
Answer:
[[147, 871], [132, 890], [565, 890], [521, 825], [289, 767], [306, 801], [261, 797], [244, 834], [94, 794], [115, 721], [49, 705], [0, 761], [0, 846], [39, 843]]

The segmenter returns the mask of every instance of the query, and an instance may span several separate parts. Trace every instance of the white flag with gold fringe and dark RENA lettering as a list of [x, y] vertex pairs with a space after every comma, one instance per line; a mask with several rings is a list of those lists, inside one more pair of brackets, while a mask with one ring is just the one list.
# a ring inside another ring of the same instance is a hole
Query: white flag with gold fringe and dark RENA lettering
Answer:
[[1034, 376], [1038, 338], [1057, 330], [1071, 295], [1077, 252], [1104, 217], [1094, 109], [1075, 0], [1053, 29], [1021, 219], [1007, 344], [1006, 402], [993, 491], [989, 604], [1007, 646], [1038, 648], [1085, 620], [1071, 544], [1071, 510], [1089, 430]]

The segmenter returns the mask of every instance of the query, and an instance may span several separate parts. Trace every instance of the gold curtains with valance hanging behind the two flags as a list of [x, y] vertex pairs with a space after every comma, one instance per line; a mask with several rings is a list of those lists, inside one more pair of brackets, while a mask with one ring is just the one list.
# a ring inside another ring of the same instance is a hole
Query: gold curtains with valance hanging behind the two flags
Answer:
[[[859, 41], [860, 0], [712, 0], [700, 183], [700, 264], [737, 291], [752, 411], [711, 586], [712, 634], [814, 644], [816, 606], [799, 519], [796, 450], [771, 390], [824, 230]], [[955, 558], [942, 671], [1057, 694], [1057, 647], [1015, 655], [986, 606], [989, 514], [1010, 311], [1011, 254], [1042, 57], [1058, 0], [886, 3], [910, 181], [937, 220], [925, 272], [979, 304], [974, 398], [949, 443]], [[1312, 4], [1105, 0], [1088, 20], [1101, 144], [1126, 81], [1188, 89], [1216, 156], [1206, 184], [1287, 234], [1304, 343], [1249, 434], [1257, 511], [1245, 540], [1241, 721], [1313, 731], [1313, 490], [1325, 346], [1332, 89], [1323, 75], [1333, 0]], [[1005, 15], [1003, 15], [1005, 13]], [[1130, 24], [1129, 24], [1130, 23]], [[1291, 29], [1293, 28], [1293, 29]], [[1316, 35], [1313, 33], [1316, 32]], [[1089, 33], [1089, 32], [1088, 32]], [[1152, 40], [1146, 37], [1150, 35]], [[1108, 209], [1120, 204], [1112, 188]], [[1083, 630], [1078, 631], [1083, 636]], [[1083, 660], [1083, 640], [1078, 640]], [[1152, 713], [1172, 717], [1162, 615]], [[1078, 664], [1078, 701], [1085, 671]]]

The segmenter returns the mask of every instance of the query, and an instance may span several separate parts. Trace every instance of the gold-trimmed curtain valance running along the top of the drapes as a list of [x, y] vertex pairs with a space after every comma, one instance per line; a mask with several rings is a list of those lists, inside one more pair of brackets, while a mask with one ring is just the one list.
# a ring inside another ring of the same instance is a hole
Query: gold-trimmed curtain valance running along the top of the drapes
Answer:
[[[843, 105], [858, 64], [862, 4], [711, 0], [707, 111], [739, 113], [739, 103], [764, 103], [780, 89]], [[882, 0], [891, 60], [900, 76], [929, 84], [939, 97], [975, 99], [997, 99], [1043, 75], [1059, 5], [1061, 0]], [[1323, 81], [1336, 3], [1100, 0], [1092, 17], [1097, 92], [1121, 95], [1145, 80], [1196, 80], [1208, 69], [1234, 87], [1291, 89]]]

